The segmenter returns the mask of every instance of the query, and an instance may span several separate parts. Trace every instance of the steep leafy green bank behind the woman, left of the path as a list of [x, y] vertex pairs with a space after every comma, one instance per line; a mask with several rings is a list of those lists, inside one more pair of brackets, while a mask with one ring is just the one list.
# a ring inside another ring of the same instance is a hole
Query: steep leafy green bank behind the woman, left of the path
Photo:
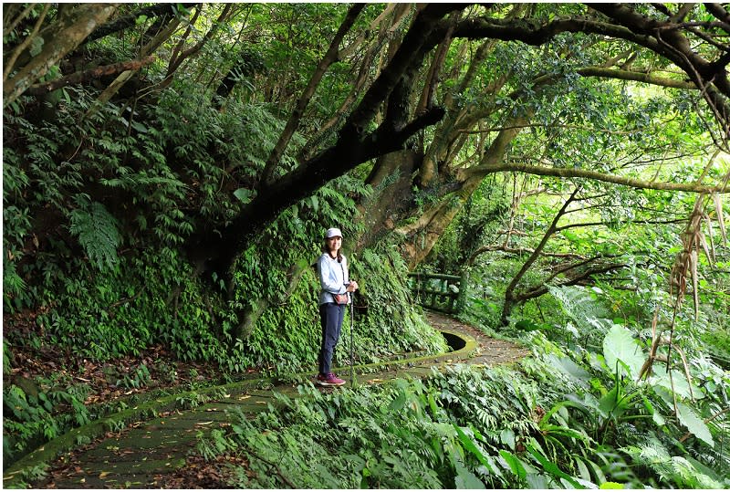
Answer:
[[[89, 57], [124, 60], [129, 54], [122, 48], [104, 38], [89, 47]], [[162, 75], [157, 65], [146, 77]], [[234, 378], [252, 369], [283, 375], [316, 366], [312, 271], [284, 304], [266, 304], [248, 336], [238, 338], [236, 330], [247, 309], [284, 296], [292, 266], [317, 259], [323, 230], [336, 224], [354, 235], [349, 194], [368, 190], [343, 177], [287, 209], [240, 256], [232, 285], [222, 272], [200, 275], [186, 241], [195, 229], [225, 225], [250, 201], [255, 176], [284, 126], [275, 104], [244, 93], [219, 111], [200, 89], [191, 79], [176, 79], [152, 99], [98, 107], [99, 91], [79, 86], [60, 90], [58, 99], [26, 98], [5, 110], [6, 377], [16, 351], [65, 354], [68, 370], [85, 359], [112, 361], [159, 347]], [[302, 138], [294, 143], [301, 146]], [[287, 153], [283, 161], [291, 165], [294, 158]], [[372, 307], [358, 317], [358, 359], [443, 350], [417, 307], [398, 309], [401, 319], [392, 316], [392, 306], [409, 297], [402, 260], [388, 250], [361, 255], [362, 265], [351, 258], [353, 275], [362, 278], [362, 299]], [[384, 336], [394, 327], [401, 336]], [[110, 382], [119, 378], [110, 375]], [[68, 382], [32, 385], [36, 390], [27, 393], [15, 378], [6, 379], [8, 462], [88, 419], [85, 396]], [[75, 410], [68, 413], [71, 403]]]

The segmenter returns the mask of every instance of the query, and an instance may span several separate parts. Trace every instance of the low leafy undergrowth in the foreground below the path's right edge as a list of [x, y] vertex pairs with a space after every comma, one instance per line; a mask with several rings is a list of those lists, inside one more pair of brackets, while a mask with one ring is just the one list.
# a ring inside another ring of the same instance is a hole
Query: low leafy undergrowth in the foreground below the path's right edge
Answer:
[[[242, 488], [730, 483], [709, 469], [706, 455], [689, 456], [676, 439], [660, 437], [651, 419], [647, 425], [624, 413], [601, 417], [598, 399], [595, 408], [588, 404], [598, 389], [593, 384], [585, 369], [550, 356], [514, 368], [455, 366], [423, 381], [332, 394], [306, 385], [297, 398], [278, 396], [253, 420], [240, 413], [227, 434], [202, 439], [197, 449], [206, 459], [230, 456], [239, 465], [229, 466], [229, 485]], [[601, 406], [612, 399], [610, 391], [599, 397]], [[600, 418], [615, 427], [610, 442], [594, 438]]]

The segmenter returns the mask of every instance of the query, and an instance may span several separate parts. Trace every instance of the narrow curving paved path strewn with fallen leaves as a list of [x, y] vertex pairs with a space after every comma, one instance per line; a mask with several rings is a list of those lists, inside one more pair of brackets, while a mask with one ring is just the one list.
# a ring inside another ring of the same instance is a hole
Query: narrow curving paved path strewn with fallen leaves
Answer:
[[[431, 325], [443, 333], [453, 351], [356, 366], [357, 384], [387, 382], [402, 377], [422, 377], [433, 367], [443, 369], [457, 363], [495, 365], [517, 361], [529, 351], [505, 340], [486, 337], [479, 330], [443, 314], [427, 312]], [[349, 380], [349, 368], [339, 373]], [[313, 374], [301, 374], [311, 379]], [[5, 471], [5, 488], [17, 487], [28, 470], [47, 463], [49, 473], [41, 480], [25, 482], [33, 488], [159, 488], [182, 466], [201, 435], [221, 429], [233, 420], [238, 407], [258, 413], [275, 403], [274, 393], [297, 395], [300, 382], [276, 383], [255, 380], [219, 386], [207, 391], [206, 403], [192, 410], [178, 410], [193, 393], [149, 403], [149, 409], [130, 409], [141, 414], [136, 422], [112, 416], [59, 437]], [[349, 385], [349, 382], [348, 382]], [[334, 389], [332, 391], [339, 391]], [[201, 393], [201, 392], [197, 392]], [[145, 414], [153, 415], [144, 418]]]

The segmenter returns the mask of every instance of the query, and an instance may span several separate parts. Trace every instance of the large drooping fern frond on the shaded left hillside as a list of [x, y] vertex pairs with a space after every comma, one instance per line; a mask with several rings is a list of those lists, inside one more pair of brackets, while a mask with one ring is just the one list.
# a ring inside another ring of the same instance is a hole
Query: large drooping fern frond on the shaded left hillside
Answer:
[[92, 202], [70, 215], [70, 233], [78, 237], [89, 260], [99, 268], [113, 268], [119, 263], [117, 248], [121, 244], [119, 223], [103, 204]]

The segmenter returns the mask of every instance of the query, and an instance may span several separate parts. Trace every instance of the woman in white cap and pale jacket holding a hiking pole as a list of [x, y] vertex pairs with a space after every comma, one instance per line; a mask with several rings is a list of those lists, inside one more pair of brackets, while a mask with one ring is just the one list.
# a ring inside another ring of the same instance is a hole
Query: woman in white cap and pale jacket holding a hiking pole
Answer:
[[350, 302], [349, 292], [358, 289], [356, 281], [349, 281], [348, 261], [339, 248], [342, 246], [342, 232], [331, 227], [325, 233], [322, 256], [317, 260], [319, 275], [319, 319], [322, 323], [322, 344], [319, 348], [319, 373], [317, 382], [322, 386], [340, 386], [339, 379], [330, 368], [332, 353], [339, 340], [342, 319]]

